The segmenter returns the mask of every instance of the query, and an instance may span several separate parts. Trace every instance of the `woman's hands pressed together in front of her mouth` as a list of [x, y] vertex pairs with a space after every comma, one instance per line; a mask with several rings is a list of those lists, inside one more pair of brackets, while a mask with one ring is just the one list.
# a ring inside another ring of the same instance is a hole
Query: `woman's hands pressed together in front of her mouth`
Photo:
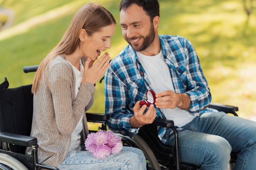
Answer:
[[[108, 52], [103, 54], [95, 63], [90, 58], [85, 61], [83, 69], [83, 81], [82, 85], [88, 81], [95, 84], [105, 74], [110, 67], [110, 56]], [[93, 64], [94, 63], [94, 64]]]

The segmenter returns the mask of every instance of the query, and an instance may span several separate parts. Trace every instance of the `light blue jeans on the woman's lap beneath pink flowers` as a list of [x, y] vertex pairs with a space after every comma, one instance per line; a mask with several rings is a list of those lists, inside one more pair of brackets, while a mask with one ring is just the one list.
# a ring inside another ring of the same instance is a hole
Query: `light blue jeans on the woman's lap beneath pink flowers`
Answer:
[[69, 152], [60, 166], [60, 170], [146, 170], [144, 153], [132, 147], [124, 146], [121, 152], [97, 159], [88, 151]]

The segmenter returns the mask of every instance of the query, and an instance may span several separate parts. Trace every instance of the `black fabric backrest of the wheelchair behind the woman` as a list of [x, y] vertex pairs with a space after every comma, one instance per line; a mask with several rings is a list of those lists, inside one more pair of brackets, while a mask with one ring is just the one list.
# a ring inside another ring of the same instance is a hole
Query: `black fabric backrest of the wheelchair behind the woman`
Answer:
[[[0, 131], [30, 135], [33, 116], [32, 85], [0, 91]], [[11, 151], [23, 153], [25, 148], [10, 145]]]

